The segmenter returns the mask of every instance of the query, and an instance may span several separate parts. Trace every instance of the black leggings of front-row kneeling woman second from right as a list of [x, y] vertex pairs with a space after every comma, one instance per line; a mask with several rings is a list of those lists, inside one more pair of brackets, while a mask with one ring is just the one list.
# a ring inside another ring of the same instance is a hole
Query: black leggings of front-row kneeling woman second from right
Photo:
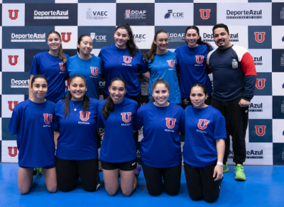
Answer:
[[149, 194], [158, 196], [165, 189], [165, 193], [170, 196], [178, 195], [178, 191], [180, 191], [182, 164], [176, 167], [156, 168], [148, 167], [142, 163], [142, 167]]

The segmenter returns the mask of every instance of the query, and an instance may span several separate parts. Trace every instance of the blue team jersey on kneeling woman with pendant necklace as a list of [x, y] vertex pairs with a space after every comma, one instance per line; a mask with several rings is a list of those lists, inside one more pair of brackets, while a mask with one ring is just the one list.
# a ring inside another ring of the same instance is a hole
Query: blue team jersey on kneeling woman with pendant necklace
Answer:
[[[99, 101], [89, 98], [89, 110], [84, 115], [82, 101], [70, 100], [70, 116], [66, 116], [65, 120], [64, 105], [65, 101], [60, 100], [55, 108], [54, 127], [60, 133], [55, 156], [63, 160], [96, 159]], [[74, 106], [77, 111], [74, 111]]]

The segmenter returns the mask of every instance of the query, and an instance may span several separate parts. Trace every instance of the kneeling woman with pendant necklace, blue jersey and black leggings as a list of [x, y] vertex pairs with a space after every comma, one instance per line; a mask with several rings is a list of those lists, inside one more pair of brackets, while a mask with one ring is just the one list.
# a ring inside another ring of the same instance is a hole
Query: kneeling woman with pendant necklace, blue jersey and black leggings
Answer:
[[58, 185], [72, 191], [78, 177], [85, 191], [99, 188], [97, 115], [99, 101], [86, 95], [87, 82], [80, 74], [70, 78], [67, 96], [55, 108], [55, 129], [59, 130], [55, 155]]

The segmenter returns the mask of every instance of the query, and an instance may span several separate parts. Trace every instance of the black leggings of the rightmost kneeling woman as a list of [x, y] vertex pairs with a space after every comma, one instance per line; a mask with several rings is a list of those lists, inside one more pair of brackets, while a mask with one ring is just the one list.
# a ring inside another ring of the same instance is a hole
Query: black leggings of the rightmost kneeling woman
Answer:
[[185, 179], [187, 190], [193, 201], [204, 199], [208, 203], [213, 203], [219, 198], [221, 180], [214, 181], [214, 167], [217, 162], [207, 167], [192, 167], [184, 162]]

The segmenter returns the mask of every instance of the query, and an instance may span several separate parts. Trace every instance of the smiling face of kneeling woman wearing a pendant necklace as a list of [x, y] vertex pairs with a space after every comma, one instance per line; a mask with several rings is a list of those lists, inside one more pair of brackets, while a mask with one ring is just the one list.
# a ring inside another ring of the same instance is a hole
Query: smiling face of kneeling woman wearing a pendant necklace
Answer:
[[72, 79], [72, 82], [69, 83], [68, 90], [72, 95], [72, 101], [82, 101], [87, 91], [87, 85], [82, 78], [75, 77]]

